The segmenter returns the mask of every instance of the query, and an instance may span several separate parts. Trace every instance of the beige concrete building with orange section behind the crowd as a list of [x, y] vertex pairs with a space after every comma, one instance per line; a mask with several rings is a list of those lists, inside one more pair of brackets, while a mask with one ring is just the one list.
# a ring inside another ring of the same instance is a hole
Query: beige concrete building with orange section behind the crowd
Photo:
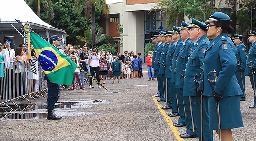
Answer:
[[[123, 46], [116, 48], [120, 53], [140, 52], [144, 58], [144, 45], [149, 43], [151, 35], [158, 34], [161, 30], [170, 30], [166, 27], [166, 17], [161, 21], [160, 12], [148, 13], [159, 0], [106, 0], [106, 2], [110, 6], [110, 15], [109, 18], [102, 17], [99, 25], [106, 35], [112, 36], [111, 44], [118, 43], [119, 39], [123, 38]], [[220, 7], [223, 4], [218, 2], [216, 5]], [[223, 8], [223, 10], [230, 12], [231, 8]], [[185, 16], [179, 19], [179, 24], [183, 19], [186, 22], [191, 21]], [[117, 33], [118, 24], [123, 26], [123, 37]]]

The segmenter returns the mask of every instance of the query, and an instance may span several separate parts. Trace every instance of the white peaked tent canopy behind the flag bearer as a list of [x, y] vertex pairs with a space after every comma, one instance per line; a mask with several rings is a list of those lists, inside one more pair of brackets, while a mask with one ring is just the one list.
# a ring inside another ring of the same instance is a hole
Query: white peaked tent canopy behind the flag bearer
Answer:
[[[63, 38], [62, 44], [66, 44], [65, 30], [55, 28], [45, 23], [34, 13], [24, 0], [1, 0], [1, 5], [0, 41], [3, 41], [3, 37], [5, 36], [15, 36], [16, 44], [19, 45], [24, 42], [23, 37], [20, 35], [22, 25], [16, 22], [15, 19], [17, 19], [21, 22], [29, 23], [32, 30], [44, 39], [49, 38], [51, 35], [58, 35], [60, 38]], [[21, 34], [23, 35], [23, 33]]]

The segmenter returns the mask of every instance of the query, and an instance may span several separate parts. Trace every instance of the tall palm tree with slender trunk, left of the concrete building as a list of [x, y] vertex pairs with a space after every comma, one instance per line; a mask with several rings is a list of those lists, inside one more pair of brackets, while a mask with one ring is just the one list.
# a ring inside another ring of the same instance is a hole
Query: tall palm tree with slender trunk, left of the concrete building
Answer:
[[[109, 6], [106, 0], [74, 0], [74, 11], [81, 13], [84, 10], [84, 15], [87, 20], [92, 18], [92, 45], [95, 45], [95, 6], [104, 15], [109, 14]], [[90, 13], [91, 12], [91, 13]]]

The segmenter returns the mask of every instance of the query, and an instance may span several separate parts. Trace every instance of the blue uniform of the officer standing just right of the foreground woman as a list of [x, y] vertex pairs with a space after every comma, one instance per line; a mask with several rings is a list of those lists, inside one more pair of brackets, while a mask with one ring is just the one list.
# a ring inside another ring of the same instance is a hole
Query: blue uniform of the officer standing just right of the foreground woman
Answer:
[[[236, 66], [236, 78], [238, 80], [238, 84], [243, 92], [243, 94], [240, 96], [240, 100], [245, 100], [244, 92], [245, 92], [245, 64], [246, 64], [246, 47], [244, 43], [239, 43], [236, 46], [236, 60], [240, 62], [240, 65]], [[242, 72], [239, 71], [242, 70]], [[241, 77], [242, 75], [242, 77]], [[242, 82], [243, 81], [243, 82]], [[244, 84], [244, 86], [243, 86]]]

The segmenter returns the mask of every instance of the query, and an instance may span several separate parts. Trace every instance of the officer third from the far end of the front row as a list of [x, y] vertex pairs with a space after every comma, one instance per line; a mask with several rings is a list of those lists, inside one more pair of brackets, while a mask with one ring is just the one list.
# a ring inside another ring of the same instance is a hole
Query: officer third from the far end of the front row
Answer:
[[[162, 85], [164, 85], [164, 86], [161, 86], [160, 90], [162, 90], [161, 92], [164, 93], [164, 95], [165, 95], [164, 97], [166, 99], [166, 94], [167, 94], [167, 92], [166, 92], [166, 87], [167, 87], [166, 82], [167, 82], [167, 79], [166, 79], [166, 76], [165, 76], [165, 64], [166, 64], [166, 54], [167, 54], [167, 51], [168, 51], [170, 46], [169, 46], [169, 43], [166, 40], [166, 32], [164, 32], [164, 34], [165, 34], [164, 37], [162, 37], [162, 43], [163, 43], [164, 46], [163, 46], [162, 53], [161, 53], [161, 56], [160, 56], [160, 67], [159, 67], [158, 74], [161, 77]], [[171, 104], [168, 105], [167, 102], [166, 102], [166, 106], [162, 107], [162, 109], [170, 109], [170, 108], [172, 108], [172, 105]]]

